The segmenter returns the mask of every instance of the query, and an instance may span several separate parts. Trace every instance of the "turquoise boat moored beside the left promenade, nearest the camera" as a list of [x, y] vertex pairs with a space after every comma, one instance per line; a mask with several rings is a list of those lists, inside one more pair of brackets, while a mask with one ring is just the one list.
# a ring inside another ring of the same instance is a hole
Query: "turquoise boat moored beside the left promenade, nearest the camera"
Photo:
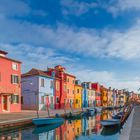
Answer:
[[51, 125], [56, 123], [64, 122], [63, 118], [34, 118], [32, 119], [33, 124], [36, 126]]

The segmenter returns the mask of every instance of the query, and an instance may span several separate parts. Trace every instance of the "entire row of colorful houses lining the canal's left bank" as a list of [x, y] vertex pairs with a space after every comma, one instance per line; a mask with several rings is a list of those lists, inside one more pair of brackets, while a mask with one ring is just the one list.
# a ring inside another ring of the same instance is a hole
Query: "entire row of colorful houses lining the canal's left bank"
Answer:
[[0, 112], [120, 106], [128, 97], [125, 90], [81, 82], [61, 65], [21, 74], [21, 62], [0, 50]]

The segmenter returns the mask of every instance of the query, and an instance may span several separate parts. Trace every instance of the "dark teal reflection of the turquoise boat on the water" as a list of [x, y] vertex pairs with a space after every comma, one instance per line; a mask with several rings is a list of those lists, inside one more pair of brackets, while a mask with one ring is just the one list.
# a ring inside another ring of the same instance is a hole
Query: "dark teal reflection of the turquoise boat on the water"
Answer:
[[35, 129], [33, 130], [32, 133], [33, 134], [46, 133], [48, 131], [51, 131], [51, 130], [54, 130], [54, 129], [60, 127], [62, 124], [63, 124], [63, 122], [52, 124], [52, 125], [38, 126], [38, 127], [35, 127]]

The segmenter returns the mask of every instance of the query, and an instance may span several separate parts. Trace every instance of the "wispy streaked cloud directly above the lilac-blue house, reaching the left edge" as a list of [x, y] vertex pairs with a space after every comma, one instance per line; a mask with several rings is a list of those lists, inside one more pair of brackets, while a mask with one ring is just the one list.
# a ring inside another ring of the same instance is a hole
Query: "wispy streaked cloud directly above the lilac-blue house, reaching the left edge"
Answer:
[[8, 56], [21, 61], [23, 72], [33, 67], [46, 69], [47, 66], [66, 65], [74, 62], [73, 58], [59, 54], [56, 50], [44, 46], [0, 44], [0, 50], [8, 51]]

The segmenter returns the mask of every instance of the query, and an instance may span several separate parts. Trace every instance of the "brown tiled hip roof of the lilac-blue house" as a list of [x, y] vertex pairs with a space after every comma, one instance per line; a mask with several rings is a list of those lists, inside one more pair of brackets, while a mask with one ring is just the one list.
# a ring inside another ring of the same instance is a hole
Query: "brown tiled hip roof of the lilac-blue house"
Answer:
[[39, 69], [35, 69], [35, 68], [32, 68], [29, 72], [27, 72], [25, 74], [22, 74], [22, 77], [35, 76], [35, 75], [36, 76], [47, 76], [47, 77], [52, 78], [51, 76], [49, 76], [44, 71], [39, 70]]

